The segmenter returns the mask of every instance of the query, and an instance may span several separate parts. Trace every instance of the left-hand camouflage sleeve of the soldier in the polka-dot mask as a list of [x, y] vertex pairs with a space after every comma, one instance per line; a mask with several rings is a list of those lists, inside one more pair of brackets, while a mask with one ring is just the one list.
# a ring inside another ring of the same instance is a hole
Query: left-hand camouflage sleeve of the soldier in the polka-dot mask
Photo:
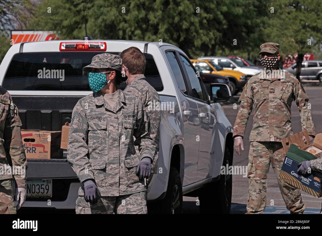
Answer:
[[246, 83], [238, 101], [241, 102], [241, 105], [234, 124], [233, 137], [236, 135], [244, 136], [246, 124], [253, 109], [253, 92], [249, 81]]

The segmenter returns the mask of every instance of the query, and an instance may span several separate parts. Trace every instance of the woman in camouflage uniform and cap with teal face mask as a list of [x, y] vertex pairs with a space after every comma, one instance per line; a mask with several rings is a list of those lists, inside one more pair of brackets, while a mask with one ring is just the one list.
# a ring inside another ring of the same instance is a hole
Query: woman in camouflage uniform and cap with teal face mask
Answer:
[[147, 213], [144, 178], [151, 164], [142, 160], [153, 160], [155, 146], [141, 100], [118, 89], [126, 80], [121, 69], [121, 58], [109, 53], [96, 55], [83, 68], [91, 72], [93, 93], [73, 109], [67, 155], [81, 182], [77, 214]]

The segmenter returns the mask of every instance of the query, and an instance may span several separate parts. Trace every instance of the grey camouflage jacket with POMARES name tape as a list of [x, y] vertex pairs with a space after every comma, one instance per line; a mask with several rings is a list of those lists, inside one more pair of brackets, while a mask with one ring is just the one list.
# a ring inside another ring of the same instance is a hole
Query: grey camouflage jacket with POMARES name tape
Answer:
[[[142, 158], [153, 158], [155, 146], [141, 100], [121, 90], [114, 108], [100, 92], [80, 99], [73, 109], [67, 151], [80, 181], [95, 179], [102, 196], [147, 190], [136, 169]], [[84, 195], [81, 188], [78, 193]]]

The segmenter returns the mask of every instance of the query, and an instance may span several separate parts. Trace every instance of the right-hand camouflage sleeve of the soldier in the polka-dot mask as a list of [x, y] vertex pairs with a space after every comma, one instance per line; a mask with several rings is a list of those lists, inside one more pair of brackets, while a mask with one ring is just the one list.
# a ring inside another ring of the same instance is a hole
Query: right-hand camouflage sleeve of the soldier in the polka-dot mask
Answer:
[[297, 79], [294, 79], [294, 101], [300, 112], [302, 130], [306, 129], [309, 135], [315, 136], [311, 108], [308, 100], [308, 95], [305, 93], [302, 84]]

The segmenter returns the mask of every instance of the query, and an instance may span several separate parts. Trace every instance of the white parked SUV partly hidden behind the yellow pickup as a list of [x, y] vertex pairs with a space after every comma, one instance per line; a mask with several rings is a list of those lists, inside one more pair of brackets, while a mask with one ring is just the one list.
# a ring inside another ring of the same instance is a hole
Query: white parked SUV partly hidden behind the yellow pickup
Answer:
[[257, 66], [245, 66], [242, 62], [230, 57], [198, 57], [198, 60], [211, 60], [226, 70], [236, 70], [253, 76], [262, 70]]

